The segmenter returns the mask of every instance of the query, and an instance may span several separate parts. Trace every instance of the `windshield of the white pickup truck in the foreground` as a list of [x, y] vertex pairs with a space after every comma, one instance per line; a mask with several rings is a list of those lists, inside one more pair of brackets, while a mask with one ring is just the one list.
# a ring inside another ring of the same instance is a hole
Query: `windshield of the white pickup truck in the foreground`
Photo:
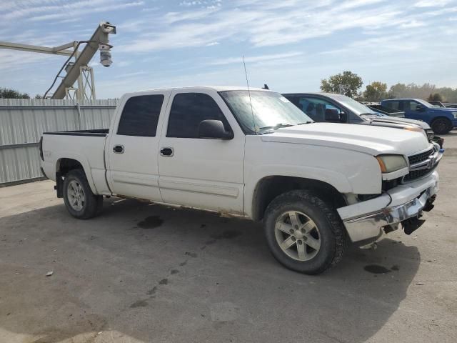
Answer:
[[248, 91], [221, 91], [219, 94], [246, 134], [313, 122], [285, 97], [273, 91], [251, 91], [251, 100]]

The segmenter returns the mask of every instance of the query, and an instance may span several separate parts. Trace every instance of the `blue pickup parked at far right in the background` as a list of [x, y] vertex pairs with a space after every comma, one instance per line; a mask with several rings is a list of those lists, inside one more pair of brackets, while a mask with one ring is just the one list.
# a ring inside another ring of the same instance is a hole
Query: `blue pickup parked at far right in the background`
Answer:
[[381, 105], [405, 112], [408, 119], [426, 121], [436, 134], [447, 134], [457, 127], [457, 109], [433, 106], [422, 99], [386, 99]]

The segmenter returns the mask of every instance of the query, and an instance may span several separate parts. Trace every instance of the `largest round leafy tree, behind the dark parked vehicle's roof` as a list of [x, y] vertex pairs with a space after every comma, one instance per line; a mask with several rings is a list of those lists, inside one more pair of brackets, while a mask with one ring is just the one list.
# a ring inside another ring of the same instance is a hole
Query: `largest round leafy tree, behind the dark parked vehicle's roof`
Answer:
[[351, 98], [358, 96], [358, 90], [363, 84], [362, 78], [352, 71], [330, 76], [328, 79], [321, 80], [321, 91], [329, 93], [339, 93]]

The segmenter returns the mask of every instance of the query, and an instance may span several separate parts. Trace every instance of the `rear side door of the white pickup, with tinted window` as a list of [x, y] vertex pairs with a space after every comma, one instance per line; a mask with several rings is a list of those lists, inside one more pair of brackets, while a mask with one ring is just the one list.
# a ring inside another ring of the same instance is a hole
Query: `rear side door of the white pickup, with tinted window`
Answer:
[[111, 192], [161, 201], [157, 156], [169, 93], [127, 95], [106, 144]]

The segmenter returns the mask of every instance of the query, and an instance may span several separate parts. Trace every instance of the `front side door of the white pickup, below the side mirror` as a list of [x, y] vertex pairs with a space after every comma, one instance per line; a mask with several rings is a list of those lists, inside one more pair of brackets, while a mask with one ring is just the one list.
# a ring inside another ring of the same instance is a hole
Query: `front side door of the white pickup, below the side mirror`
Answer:
[[[216, 91], [174, 91], [159, 145], [164, 202], [201, 209], [243, 212], [245, 136]], [[206, 119], [222, 121], [232, 139], [199, 138]]]

